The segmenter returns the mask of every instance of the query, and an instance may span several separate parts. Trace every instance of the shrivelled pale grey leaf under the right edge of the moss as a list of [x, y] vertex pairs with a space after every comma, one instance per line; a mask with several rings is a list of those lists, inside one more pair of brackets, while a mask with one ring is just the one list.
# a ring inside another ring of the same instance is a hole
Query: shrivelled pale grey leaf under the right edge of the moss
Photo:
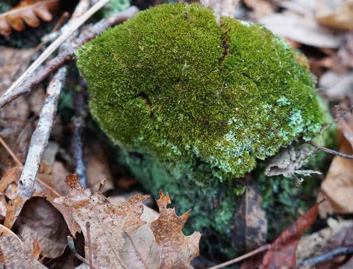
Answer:
[[299, 148], [289, 146], [277, 153], [267, 164], [265, 174], [267, 176], [283, 175], [292, 177], [294, 175], [310, 176], [311, 174], [321, 174], [315, 170], [300, 170], [313, 157], [314, 148], [309, 145], [302, 145]]

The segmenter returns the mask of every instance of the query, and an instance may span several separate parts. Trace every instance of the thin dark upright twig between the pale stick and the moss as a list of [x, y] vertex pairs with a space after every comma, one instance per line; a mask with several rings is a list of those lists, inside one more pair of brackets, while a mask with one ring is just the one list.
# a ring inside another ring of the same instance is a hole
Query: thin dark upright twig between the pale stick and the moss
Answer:
[[85, 108], [87, 104], [85, 89], [76, 93], [75, 96], [75, 115], [73, 117], [74, 129], [72, 133], [72, 151], [75, 161], [75, 173], [79, 178], [82, 187], [87, 187], [86, 164], [83, 160], [83, 141], [82, 134], [85, 128], [85, 118], [88, 112]]

